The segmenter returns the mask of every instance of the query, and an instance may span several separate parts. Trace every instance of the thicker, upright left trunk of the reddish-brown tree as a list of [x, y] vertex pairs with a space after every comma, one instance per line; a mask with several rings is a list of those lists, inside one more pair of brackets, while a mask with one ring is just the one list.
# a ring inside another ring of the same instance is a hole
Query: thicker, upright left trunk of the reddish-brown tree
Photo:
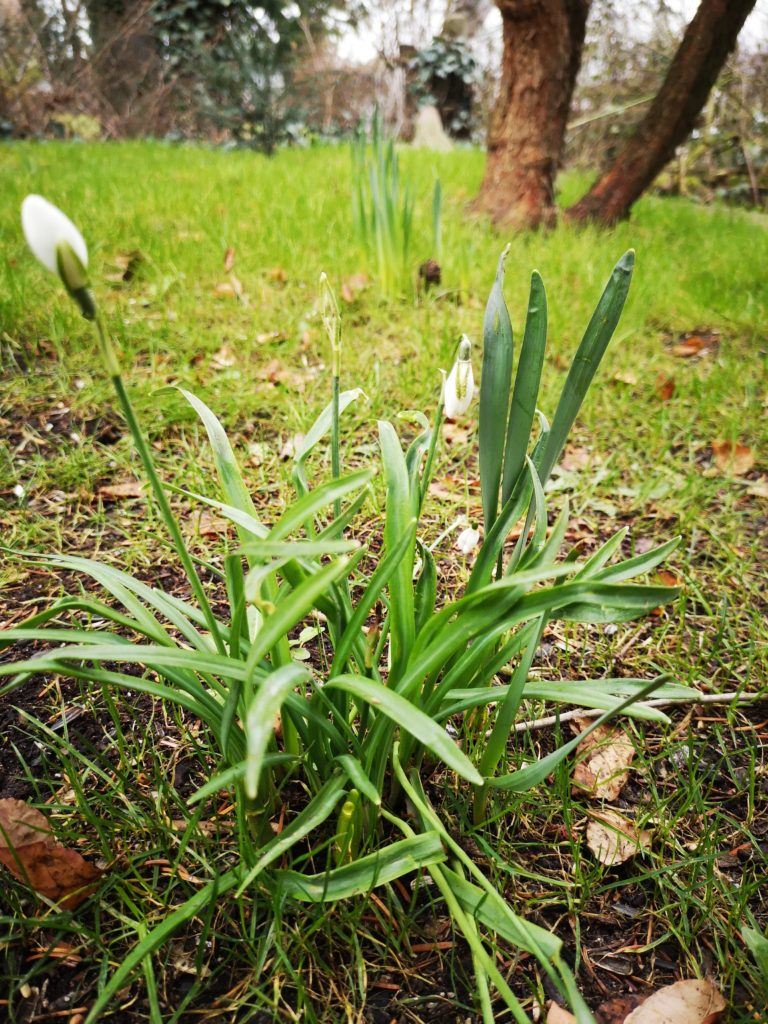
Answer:
[[499, 99], [476, 208], [506, 228], [556, 219], [554, 181], [590, 0], [496, 0], [504, 23]]

